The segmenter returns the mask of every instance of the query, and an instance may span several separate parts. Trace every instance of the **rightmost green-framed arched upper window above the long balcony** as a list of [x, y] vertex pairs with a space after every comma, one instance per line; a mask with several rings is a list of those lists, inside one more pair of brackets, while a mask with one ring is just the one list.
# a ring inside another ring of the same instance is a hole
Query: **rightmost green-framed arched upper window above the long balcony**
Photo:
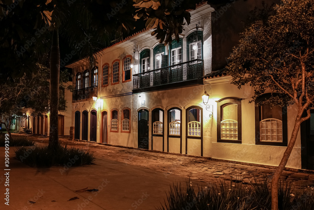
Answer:
[[187, 36], [188, 60], [203, 59], [203, 32], [193, 31]]

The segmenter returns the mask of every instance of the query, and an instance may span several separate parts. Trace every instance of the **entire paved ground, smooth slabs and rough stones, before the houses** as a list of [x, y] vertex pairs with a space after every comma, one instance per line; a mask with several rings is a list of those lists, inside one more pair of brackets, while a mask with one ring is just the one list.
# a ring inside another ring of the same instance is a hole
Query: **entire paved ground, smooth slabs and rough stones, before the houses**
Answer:
[[[36, 144], [46, 144], [48, 138], [32, 136]], [[96, 156], [95, 165], [35, 169], [16, 160], [10, 148], [10, 206], [4, 205], [4, 147], [0, 147], [0, 209], [155, 209], [166, 198], [173, 183], [193, 182], [208, 186], [219, 179], [236, 179], [250, 184], [268, 176], [274, 169], [255, 167], [202, 158], [176, 156], [143, 150], [125, 149], [89, 142], [69, 141], [62, 144], [81, 146]], [[234, 177], [234, 178], [232, 178]], [[314, 174], [284, 171], [283, 179], [295, 186], [314, 186]], [[84, 188], [98, 192], [76, 192]], [[79, 199], [68, 201], [77, 196]], [[30, 203], [34, 201], [35, 203]], [[84, 202], [85, 201], [85, 202]]]

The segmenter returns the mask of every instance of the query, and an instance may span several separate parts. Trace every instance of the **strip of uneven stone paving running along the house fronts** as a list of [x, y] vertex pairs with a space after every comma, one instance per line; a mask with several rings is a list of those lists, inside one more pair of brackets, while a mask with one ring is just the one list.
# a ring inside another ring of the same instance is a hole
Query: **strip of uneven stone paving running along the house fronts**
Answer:
[[[30, 139], [36, 141], [36, 144], [46, 144], [48, 142], [48, 138], [43, 136], [31, 135]], [[268, 180], [271, 180], [275, 172], [275, 169], [272, 168], [155, 153], [90, 142], [70, 141], [67, 137], [61, 137], [60, 142], [67, 145], [81, 146], [84, 150], [93, 152], [97, 158], [103, 157], [113, 161], [149, 168], [163, 176], [173, 174], [182, 178], [190, 178], [211, 184], [220, 183], [220, 180], [254, 184], [254, 178], [258, 180], [267, 177]], [[95, 163], [97, 164], [97, 159]], [[292, 183], [295, 187], [314, 187], [314, 171], [304, 171], [306, 173], [298, 171], [300, 170], [284, 170], [281, 179]]]

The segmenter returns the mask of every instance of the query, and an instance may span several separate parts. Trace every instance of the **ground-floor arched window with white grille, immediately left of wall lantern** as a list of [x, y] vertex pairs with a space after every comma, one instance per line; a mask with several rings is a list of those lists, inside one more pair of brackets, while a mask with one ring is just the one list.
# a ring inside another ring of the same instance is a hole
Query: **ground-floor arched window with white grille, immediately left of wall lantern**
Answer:
[[187, 135], [201, 136], [202, 112], [198, 108], [192, 108], [187, 111]]

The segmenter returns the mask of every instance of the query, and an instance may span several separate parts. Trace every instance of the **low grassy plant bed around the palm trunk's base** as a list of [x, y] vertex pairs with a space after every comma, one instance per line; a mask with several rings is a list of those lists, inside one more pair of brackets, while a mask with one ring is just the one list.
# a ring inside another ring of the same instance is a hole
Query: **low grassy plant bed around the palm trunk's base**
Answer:
[[48, 145], [19, 147], [15, 151], [15, 157], [31, 167], [82, 166], [90, 165], [95, 160], [91, 152], [67, 145], [58, 145], [56, 150], [51, 150]]

